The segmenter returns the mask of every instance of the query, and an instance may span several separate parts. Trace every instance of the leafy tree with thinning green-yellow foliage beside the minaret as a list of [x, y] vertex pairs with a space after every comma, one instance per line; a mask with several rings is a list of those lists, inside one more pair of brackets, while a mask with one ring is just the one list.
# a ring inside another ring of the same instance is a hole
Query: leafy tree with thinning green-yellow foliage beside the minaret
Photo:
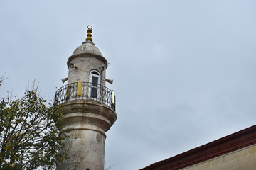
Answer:
[[54, 169], [65, 135], [60, 132], [63, 118], [52, 103], [36, 90], [23, 98], [0, 101], [0, 169]]

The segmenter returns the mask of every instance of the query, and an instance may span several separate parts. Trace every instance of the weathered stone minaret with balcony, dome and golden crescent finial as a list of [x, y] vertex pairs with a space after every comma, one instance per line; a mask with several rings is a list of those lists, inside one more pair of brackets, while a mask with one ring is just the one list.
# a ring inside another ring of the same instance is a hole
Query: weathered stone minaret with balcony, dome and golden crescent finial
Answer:
[[117, 119], [114, 91], [105, 86], [107, 60], [92, 42], [92, 26], [87, 38], [68, 58], [68, 84], [55, 93], [55, 103], [63, 109], [63, 131], [68, 139], [60, 152], [69, 158], [57, 169], [103, 170], [107, 130]]

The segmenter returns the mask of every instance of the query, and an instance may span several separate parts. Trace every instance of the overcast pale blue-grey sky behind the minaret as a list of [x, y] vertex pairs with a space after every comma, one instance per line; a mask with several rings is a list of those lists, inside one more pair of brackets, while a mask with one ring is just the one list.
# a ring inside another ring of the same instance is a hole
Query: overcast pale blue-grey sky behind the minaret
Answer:
[[140, 169], [255, 125], [256, 1], [0, 0], [0, 74], [53, 99], [92, 38], [110, 62], [117, 122], [105, 162]]

